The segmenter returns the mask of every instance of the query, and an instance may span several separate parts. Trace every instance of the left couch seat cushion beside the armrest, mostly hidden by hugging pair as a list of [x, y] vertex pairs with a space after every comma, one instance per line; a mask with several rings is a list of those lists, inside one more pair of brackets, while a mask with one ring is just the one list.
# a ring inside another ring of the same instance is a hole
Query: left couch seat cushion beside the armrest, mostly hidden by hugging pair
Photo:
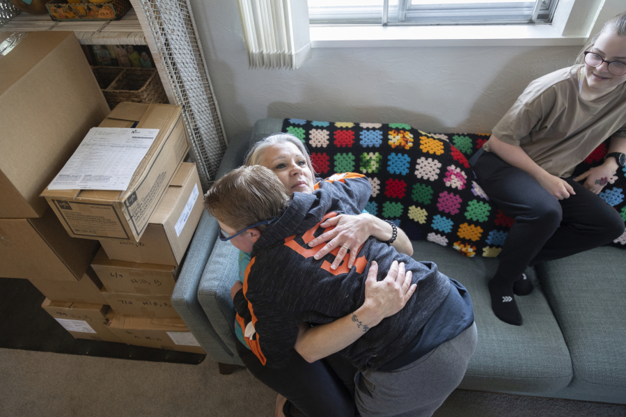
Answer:
[[230, 242], [217, 239], [198, 285], [198, 301], [219, 339], [230, 352], [233, 361], [243, 365], [235, 343], [235, 307], [230, 299], [230, 288], [239, 278], [239, 250]]

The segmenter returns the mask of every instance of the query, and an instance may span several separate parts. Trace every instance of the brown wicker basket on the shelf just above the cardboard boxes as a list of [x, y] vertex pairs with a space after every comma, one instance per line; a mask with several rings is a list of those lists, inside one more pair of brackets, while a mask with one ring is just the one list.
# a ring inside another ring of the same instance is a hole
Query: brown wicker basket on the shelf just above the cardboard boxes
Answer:
[[104, 98], [114, 109], [121, 102], [167, 103], [155, 68], [91, 67]]

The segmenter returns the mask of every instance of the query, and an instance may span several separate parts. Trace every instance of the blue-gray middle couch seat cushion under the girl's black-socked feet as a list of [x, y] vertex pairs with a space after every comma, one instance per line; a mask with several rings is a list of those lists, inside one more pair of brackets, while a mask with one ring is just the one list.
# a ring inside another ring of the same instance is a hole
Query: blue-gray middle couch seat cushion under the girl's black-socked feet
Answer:
[[487, 281], [497, 259], [451, 255], [443, 246], [413, 242], [416, 260], [431, 260], [439, 271], [462, 283], [474, 303], [478, 347], [459, 388], [518, 394], [545, 394], [570, 383], [572, 364], [561, 329], [552, 315], [533, 268], [526, 271], [535, 290], [515, 297], [524, 324], [512, 326], [491, 309]]

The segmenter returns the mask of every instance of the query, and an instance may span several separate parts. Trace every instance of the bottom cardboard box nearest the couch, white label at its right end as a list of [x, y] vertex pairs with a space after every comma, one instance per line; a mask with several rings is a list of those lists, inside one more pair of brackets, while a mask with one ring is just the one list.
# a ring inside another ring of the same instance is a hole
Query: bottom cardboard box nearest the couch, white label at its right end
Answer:
[[109, 330], [128, 345], [204, 354], [181, 319], [108, 315]]

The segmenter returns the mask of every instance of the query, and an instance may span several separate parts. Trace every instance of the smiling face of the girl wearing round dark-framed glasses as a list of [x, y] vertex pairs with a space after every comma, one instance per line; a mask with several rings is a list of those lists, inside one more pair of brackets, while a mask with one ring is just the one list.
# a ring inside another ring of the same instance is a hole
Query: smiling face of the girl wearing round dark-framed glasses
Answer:
[[[602, 56], [604, 61], [622, 61], [626, 63], [626, 38], [607, 30], [600, 34], [590, 51]], [[609, 72], [608, 66], [609, 64], [606, 62], [595, 68], [585, 64], [585, 78], [590, 90], [607, 94], [626, 81], [626, 74], [613, 75]]]

